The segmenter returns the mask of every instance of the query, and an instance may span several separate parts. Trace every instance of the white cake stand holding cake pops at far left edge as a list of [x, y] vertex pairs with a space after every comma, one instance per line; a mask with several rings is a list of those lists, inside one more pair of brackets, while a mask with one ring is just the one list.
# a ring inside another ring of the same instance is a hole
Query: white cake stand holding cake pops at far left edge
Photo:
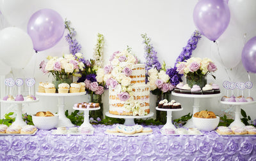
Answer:
[[17, 116], [15, 118], [15, 122], [12, 123], [12, 125], [19, 125], [20, 127], [24, 127], [27, 125], [26, 122], [22, 119], [22, 104], [30, 104], [34, 102], [38, 102], [39, 99], [33, 100], [33, 101], [4, 101], [3, 99], [0, 100], [0, 102], [8, 103], [8, 104], [16, 104], [17, 105]]

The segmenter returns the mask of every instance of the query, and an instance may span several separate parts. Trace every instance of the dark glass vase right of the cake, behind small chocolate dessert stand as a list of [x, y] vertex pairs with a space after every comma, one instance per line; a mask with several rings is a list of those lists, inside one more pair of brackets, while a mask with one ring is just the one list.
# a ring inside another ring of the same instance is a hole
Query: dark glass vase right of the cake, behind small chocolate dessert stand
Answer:
[[[166, 93], [161, 92], [161, 94], [157, 94], [156, 95], [156, 106], [158, 106], [159, 102], [163, 99], [167, 99], [169, 102], [170, 93], [169, 92], [166, 92]], [[161, 123], [166, 123], [166, 117], [167, 117], [166, 111], [156, 110], [156, 120], [159, 120]]]

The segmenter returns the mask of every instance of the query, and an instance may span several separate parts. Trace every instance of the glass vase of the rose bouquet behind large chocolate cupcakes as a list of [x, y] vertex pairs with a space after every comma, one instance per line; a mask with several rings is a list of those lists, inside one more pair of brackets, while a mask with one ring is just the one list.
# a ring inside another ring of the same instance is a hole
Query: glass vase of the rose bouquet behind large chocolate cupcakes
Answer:
[[206, 76], [187, 75], [186, 80], [187, 84], [191, 88], [193, 87], [193, 85], [199, 85], [200, 88], [203, 88], [207, 84]]

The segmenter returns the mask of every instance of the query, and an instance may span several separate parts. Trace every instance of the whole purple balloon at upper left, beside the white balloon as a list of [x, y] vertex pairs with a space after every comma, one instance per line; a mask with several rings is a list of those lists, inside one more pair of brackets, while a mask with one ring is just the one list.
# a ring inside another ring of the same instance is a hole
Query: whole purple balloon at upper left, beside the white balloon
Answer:
[[29, 19], [28, 34], [36, 51], [43, 51], [56, 45], [65, 30], [63, 18], [51, 9], [36, 11]]

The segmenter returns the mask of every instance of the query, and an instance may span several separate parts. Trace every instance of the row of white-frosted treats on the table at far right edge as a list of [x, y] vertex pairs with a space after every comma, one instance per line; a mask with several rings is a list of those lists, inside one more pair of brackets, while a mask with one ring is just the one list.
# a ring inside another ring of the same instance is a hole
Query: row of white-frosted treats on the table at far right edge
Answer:
[[252, 125], [247, 125], [245, 127], [224, 127], [220, 126], [218, 129], [216, 129], [216, 132], [220, 135], [256, 135], [256, 128]]

